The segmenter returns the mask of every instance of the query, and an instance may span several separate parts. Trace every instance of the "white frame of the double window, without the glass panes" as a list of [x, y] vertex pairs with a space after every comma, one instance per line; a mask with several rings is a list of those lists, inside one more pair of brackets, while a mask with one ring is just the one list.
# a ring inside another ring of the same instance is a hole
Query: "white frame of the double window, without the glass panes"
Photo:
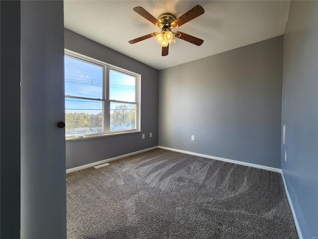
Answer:
[[[82, 137], [76, 137], [75, 134], [72, 135], [65, 135], [66, 140], [78, 140], [78, 139], [85, 139], [85, 138], [94, 138], [94, 137], [104, 137], [104, 136], [111, 136], [111, 135], [118, 135], [118, 134], [126, 134], [126, 133], [136, 133], [141, 132], [141, 75], [108, 63], [105, 63], [103, 61], [82, 55], [80, 53], [64, 49], [64, 56], [71, 57], [83, 62], [87, 62], [89, 64], [93, 64], [96, 66], [102, 67], [103, 73], [102, 73], [102, 99], [91, 99], [91, 98], [85, 98], [85, 97], [76, 97], [76, 96], [65, 96], [65, 98], [75, 98], [75, 99], [89, 99], [94, 101], [101, 101], [102, 102], [102, 114], [103, 114], [103, 120], [102, 120], [102, 130], [101, 133], [89, 133], [84, 134]], [[115, 101], [109, 99], [109, 92], [110, 92], [110, 71], [116, 71], [121, 74], [125, 74], [128, 76], [132, 76], [135, 78], [135, 102], [125, 102], [125, 101]], [[65, 83], [64, 83], [65, 84]], [[116, 131], [110, 131], [110, 103], [123, 103], [123, 104], [134, 104], [136, 105], [136, 129], [126, 129], [126, 130], [116, 130]]]

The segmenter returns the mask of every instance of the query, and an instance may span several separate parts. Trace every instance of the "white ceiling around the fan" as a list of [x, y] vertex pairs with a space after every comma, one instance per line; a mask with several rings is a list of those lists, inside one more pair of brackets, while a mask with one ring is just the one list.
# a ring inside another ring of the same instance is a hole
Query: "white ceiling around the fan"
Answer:
[[[204, 40], [196, 46], [181, 39], [161, 56], [155, 37], [129, 44], [159, 28], [133, 11], [144, 7], [156, 18], [163, 12], [179, 17], [195, 5], [205, 13], [179, 31]], [[158, 70], [284, 34], [290, 0], [65, 0], [65, 27]]]

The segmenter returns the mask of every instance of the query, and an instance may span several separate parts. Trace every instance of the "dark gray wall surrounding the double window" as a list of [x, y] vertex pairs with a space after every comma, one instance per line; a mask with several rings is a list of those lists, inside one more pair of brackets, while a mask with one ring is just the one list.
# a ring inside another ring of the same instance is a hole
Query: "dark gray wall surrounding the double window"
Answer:
[[[66, 167], [69, 169], [157, 146], [159, 71], [68, 29], [65, 29], [65, 48], [142, 75], [142, 132], [67, 141]], [[145, 133], [145, 139], [142, 139], [142, 133]]]

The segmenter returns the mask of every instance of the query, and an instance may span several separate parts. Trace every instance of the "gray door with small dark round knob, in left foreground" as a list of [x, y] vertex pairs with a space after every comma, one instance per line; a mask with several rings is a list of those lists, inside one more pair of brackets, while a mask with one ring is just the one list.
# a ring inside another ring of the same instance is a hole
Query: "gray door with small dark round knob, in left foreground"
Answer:
[[66, 238], [64, 115], [63, 1], [21, 1], [22, 239]]

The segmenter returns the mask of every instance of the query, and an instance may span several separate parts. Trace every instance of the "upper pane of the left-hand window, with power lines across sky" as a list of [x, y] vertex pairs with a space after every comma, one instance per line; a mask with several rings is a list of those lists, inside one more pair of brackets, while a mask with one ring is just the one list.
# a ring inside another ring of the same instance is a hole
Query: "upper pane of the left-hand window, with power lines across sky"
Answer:
[[65, 95], [102, 99], [103, 68], [68, 56], [65, 64]]

